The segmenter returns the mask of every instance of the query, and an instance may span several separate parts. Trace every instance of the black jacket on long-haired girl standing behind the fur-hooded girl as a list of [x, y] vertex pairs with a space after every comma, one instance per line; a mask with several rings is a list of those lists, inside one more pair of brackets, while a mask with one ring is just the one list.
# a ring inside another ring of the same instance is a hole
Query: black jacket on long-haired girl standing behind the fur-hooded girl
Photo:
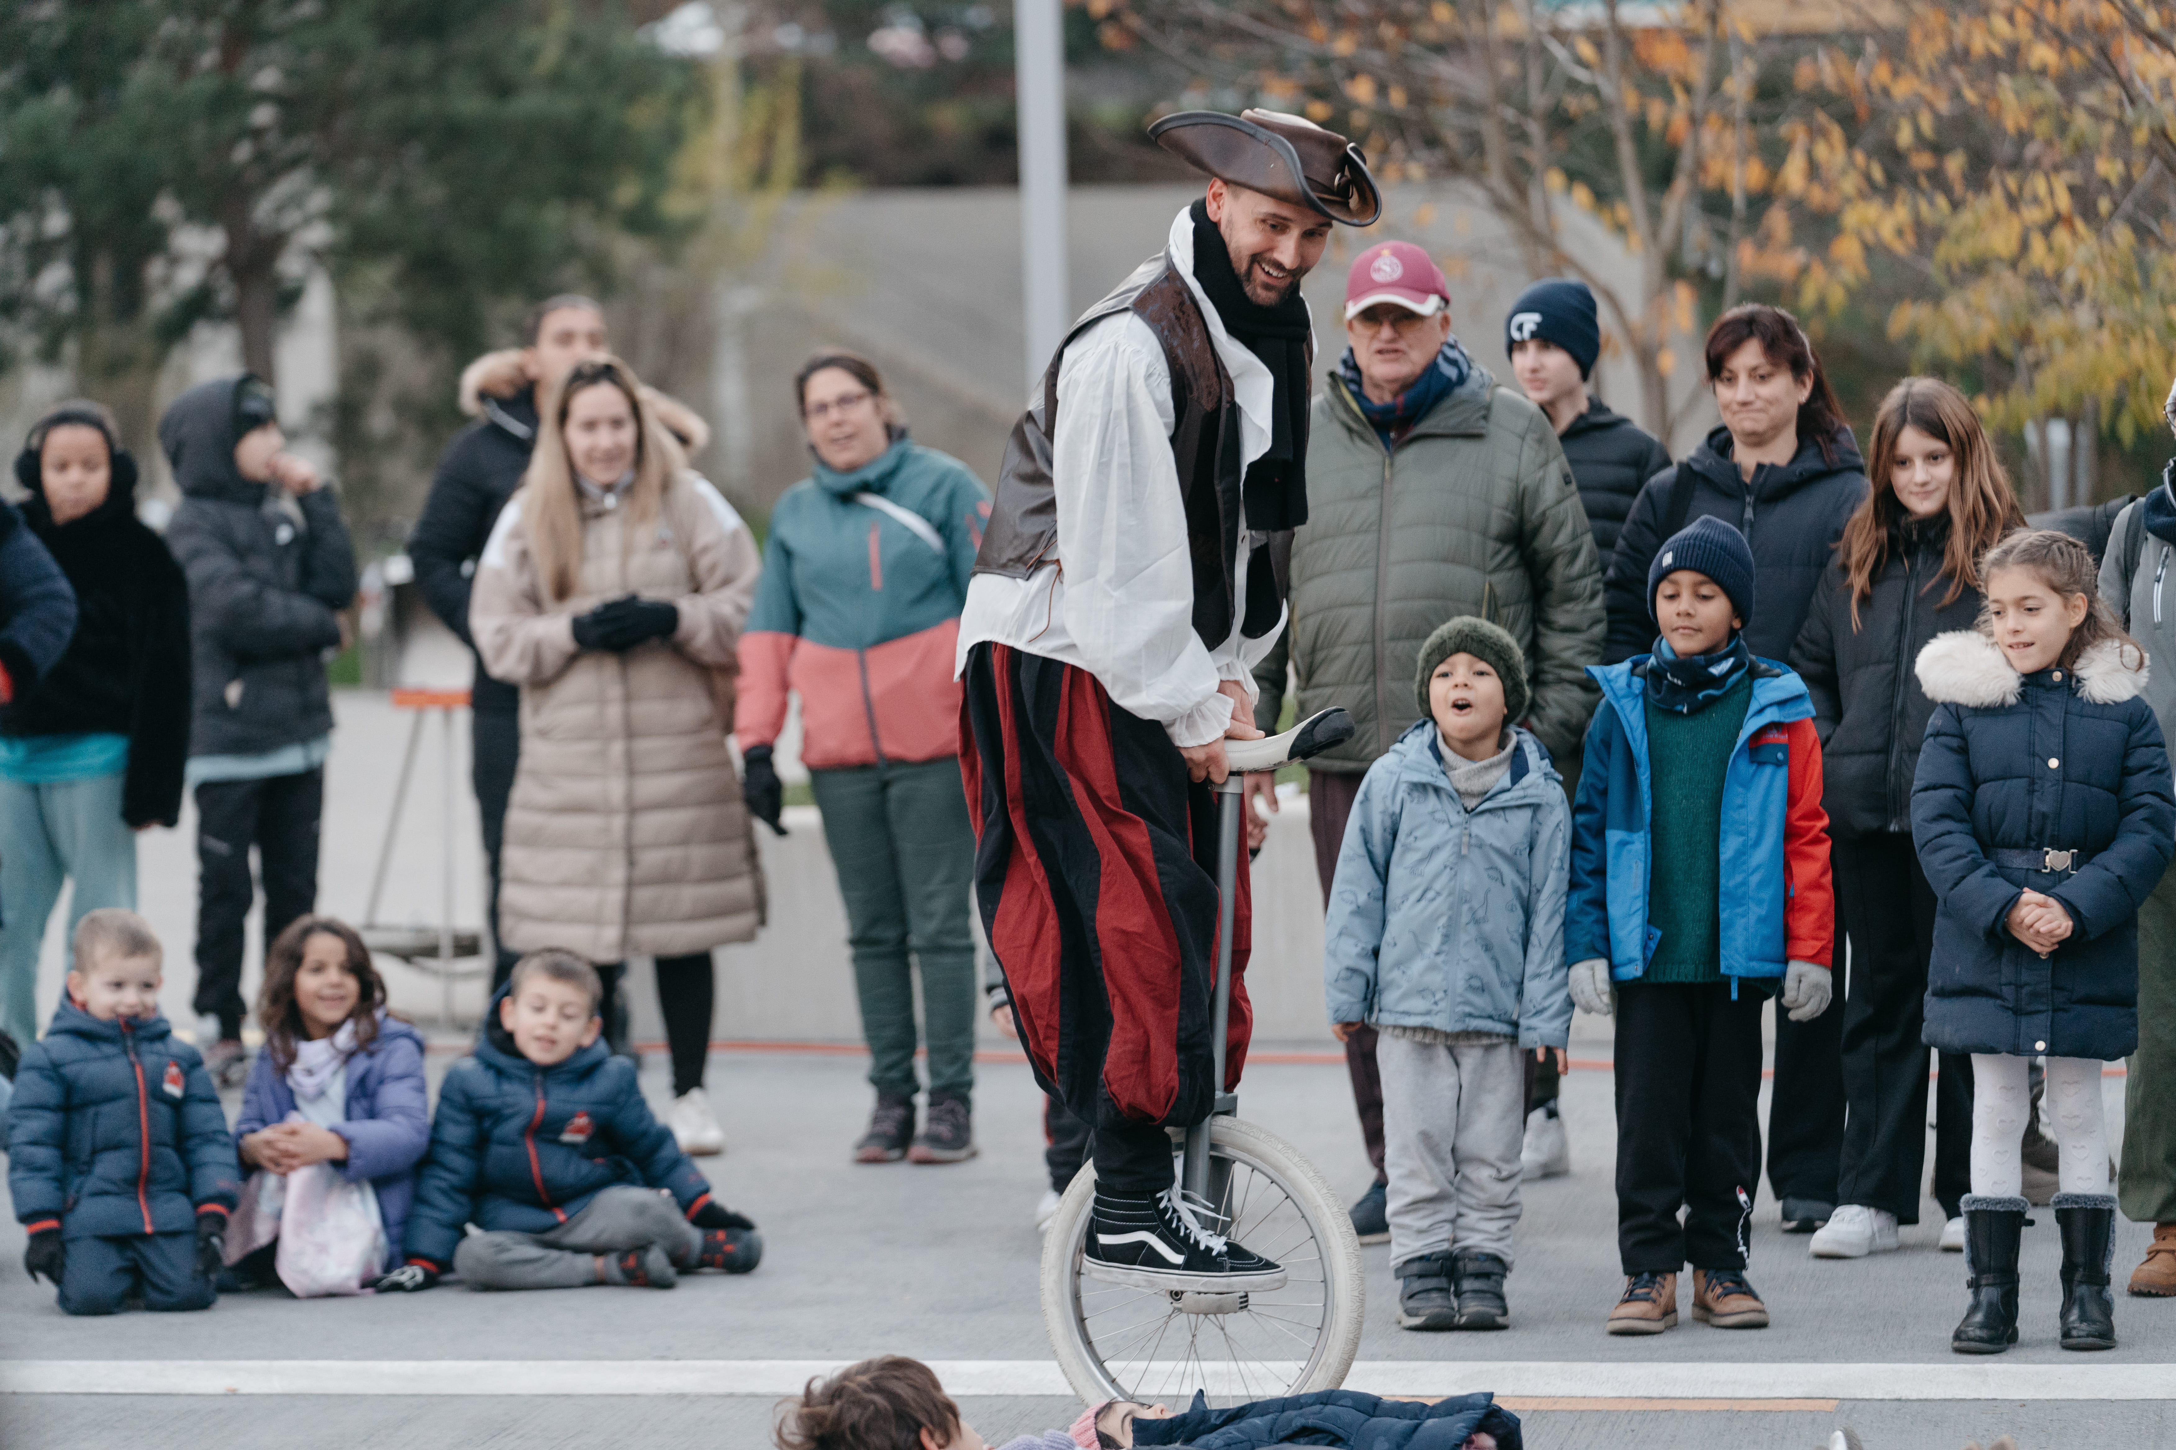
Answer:
[[1874, 593], [1858, 604], [1858, 628], [1852, 628], [1852, 589], [1841, 561], [1828, 565], [1813, 593], [1791, 667], [1813, 696], [1830, 835], [1911, 830], [1911, 783], [1926, 717], [1934, 713], [1913, 661], [1928, 639], [1969, 630], [1980, 615], [1982, 596], [1969, 585], [1943, 604], [1950, 580], [1941, 574], [1941, 552], [1948, 546], [1948, 513], [1891, 526]]

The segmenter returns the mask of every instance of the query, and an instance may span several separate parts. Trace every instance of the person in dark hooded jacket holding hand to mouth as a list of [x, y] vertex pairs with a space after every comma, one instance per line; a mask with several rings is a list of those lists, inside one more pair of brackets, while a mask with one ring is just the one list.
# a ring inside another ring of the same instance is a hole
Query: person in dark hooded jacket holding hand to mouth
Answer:
[[250, 848], [272, 941], [318, 902], [318, 817], [333, 702], [324, 657], [348, 643], [355, 546], [318, 470], [287, 452], [272, 389], [200, 383], [159, 420], [181, 509], [165, 541], [189, 578], [187, 783], [196, 789], [196, 1011], [220, 1020], [205, 1065], [242, 1074], [242, 922]]

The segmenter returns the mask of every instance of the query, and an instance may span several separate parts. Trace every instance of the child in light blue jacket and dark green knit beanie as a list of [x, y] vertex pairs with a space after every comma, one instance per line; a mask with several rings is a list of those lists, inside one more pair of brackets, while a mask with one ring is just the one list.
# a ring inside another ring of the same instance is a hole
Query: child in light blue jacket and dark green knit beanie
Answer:
[[1508, 1328], [1519, 1224], [1521, 1050], [1571, 1033], [1571, 807], [1549, 752], [1510, 724], [1525, 654], [1486, 620], [1421, 646], [1425, 720], [1360, 783], [1325, 922], [1343, 1041], [1380, 1030], [1390, 1265], [1404, 1328]]

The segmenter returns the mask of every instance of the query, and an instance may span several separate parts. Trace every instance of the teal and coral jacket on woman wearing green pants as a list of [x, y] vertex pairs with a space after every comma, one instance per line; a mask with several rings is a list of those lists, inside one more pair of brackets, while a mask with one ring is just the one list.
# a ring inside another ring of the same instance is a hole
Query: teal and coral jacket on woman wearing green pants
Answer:
[[960, 754], [953, 643], [988, 517], [966, 463], [907, 439], [790, 487], [740, 637], [740, 748], [772, 743], [796, 691], [814, 770]]

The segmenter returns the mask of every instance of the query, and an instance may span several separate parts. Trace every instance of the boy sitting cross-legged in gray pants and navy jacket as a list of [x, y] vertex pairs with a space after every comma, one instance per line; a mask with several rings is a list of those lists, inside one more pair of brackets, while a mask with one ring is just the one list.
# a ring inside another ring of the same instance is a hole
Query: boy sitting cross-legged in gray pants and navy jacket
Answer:
[[[764, 1241], [651, 1117], [635, 1065], [598, 1041], [603, 983], [574, 952], [529, 952], [474, 1054], [446, 1072], [407, 1263], [379, 1289], [670, 1289], [746, 1274]], [[483, 1233], [461, 1237], [466, 1224]]]

